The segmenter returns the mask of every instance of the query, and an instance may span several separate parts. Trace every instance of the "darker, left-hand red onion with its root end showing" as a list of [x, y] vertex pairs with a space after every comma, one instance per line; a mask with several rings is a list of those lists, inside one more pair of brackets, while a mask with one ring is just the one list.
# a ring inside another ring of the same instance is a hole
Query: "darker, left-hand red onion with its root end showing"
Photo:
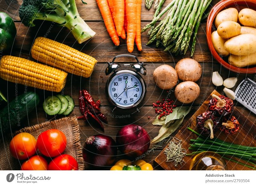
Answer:
[[116, 159], [116, 153], [116, 142], [109, 136], [98, 134], [85, 140], [83, 158], [90, 166], [110, 166]]

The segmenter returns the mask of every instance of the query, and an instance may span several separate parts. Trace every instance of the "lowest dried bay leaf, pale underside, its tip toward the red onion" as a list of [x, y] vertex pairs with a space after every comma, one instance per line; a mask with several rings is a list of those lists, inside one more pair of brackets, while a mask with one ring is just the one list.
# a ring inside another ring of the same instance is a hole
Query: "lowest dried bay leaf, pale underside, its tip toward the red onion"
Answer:
[[180, 127], [184, 118], [185, 118], [185, 116], [182, 116], [180, 119], [175, 120], [175, 122], [172, 123], [169, 127], [166, 127], [166, 125], [163, 125], [160, 128], [158, 135], [151, 141], [151, 143], [157, 143], [157, 142], [160, 142], [163, 139], [169, 137], [173, 132], [175, 132], [177, 130], [177, 128]]

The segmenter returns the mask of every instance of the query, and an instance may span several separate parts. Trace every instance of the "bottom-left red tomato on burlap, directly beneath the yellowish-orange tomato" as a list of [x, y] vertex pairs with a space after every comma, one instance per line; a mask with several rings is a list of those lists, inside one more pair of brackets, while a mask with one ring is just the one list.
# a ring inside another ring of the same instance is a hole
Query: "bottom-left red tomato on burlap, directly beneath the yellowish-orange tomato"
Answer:
[[20, 170], [47, 170], [48, 163], [42, 156], [32, 156], [25, 161]]

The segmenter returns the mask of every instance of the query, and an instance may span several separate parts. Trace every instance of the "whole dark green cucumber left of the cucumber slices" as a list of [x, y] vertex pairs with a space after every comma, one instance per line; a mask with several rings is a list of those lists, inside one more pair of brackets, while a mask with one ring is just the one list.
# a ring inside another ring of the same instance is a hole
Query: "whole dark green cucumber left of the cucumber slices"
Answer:
[[6, 136], [24, 126], [21, 121], [28, 118], [29, 112], [33, 111], [39, 104], [39, 96], [35, 92], [27, 92], [9, 102], [0, 111], [0, 136]]

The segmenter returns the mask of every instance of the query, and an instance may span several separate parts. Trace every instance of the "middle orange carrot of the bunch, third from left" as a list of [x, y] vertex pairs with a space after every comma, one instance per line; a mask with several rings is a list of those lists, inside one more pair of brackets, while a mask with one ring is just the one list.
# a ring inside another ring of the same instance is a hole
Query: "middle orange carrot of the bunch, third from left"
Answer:
[[117, 35], [122, 35], [124, 26], [124, 0], [115, 0], [114, 12], [115, 17], [113, 19], [116, 25]]

